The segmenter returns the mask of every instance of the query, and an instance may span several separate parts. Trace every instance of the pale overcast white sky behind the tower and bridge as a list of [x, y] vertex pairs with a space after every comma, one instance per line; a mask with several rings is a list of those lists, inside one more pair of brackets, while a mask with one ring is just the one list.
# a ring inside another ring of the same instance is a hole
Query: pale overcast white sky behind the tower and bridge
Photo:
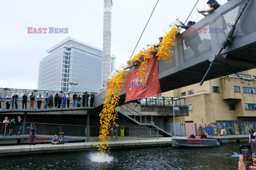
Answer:
[[[157, 43], [163, 29], [176, 19], [185, 22], [196, 1], [159, 0], [134, 55], [147, 44]], [[111, 52], [117, 57], [117, 67], [130, 59], [156, 2], [113, 0]], [[199, 0], [196, 8], [207, 10], [206, 2]], [[102, 48], [103, 0], [2, 1], [0, 16], [0, 88], [36, 89], [45, 51], [67, 37]], [[188, 21], [202, 18], [194, 10]], [[68, 33], [27, 33], [28, 27], [68, 28]]]

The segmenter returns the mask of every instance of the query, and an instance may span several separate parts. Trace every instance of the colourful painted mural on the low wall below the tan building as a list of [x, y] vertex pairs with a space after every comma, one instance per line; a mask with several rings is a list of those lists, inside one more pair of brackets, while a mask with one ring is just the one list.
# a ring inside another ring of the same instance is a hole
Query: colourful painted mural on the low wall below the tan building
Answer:
[[[249, 134], [249, 129], [256, 131], [256, 122], [226, 122], [223, 123], [228, 135]], [[185, 123], [186, 135], [194, 133], [201, 136], [204, 132], [208, 136], [220, 135], [221, 123]]]

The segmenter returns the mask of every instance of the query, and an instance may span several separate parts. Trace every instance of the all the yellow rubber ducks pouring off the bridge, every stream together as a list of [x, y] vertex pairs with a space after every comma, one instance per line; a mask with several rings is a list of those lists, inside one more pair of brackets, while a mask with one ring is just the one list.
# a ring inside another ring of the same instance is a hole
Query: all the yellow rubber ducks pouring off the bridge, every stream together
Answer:
[[[173, 57], [174, 52], [173, 50], [170, 51], [170, 48], [174, 46], [173, 42], [175, 41], [176, 34], [177, 34], [177, 30], [175, 28], [172, 28], [171, 31], [169, 31], [166, 34], [166, 36], [164, 36], [164, 39], [159, 46], [158, 53], [156, 54], [156, 56], [158, 57], [158, 60], [164, 60], [166, 61], [166, 63], [171, 63], [171, 61], [169, 61], [170, 54], [172, 54], [171, 57]], [[139, 72], [137, 73], [137, 75], [139, 75], [139, 80], [141, 80], [143, 83], [146, 83], [147, 81], [146, 75], [148, 73], [148, 60], [151, 58], [152, 52], [153, 52], [153, 47], [149, 48], [145, 52], [143, 57], [143, 62], [141, 63]], [[140, 53], [138, 53], [132, 58], [132, 62], [135, 63], [142, 54], [143, 52], [141, 50]], [[120, 99], [118, 94], [122, 91], [122, 88], [123, 88], [124, 73], [125, 73], [125, 70], [121, 71], [113, 79], [109, 80], [108, 86], [107, 86], [107, 93], [104, 96], [106, 97], [106, 99], [103, 103], [103, 109], [100, 113], [100, 135], [99, 135], [99, 145], [97, 146], [98, 150], [100, 151], [99, 154], [103, 154], [104, 156], [106, 151], [110, 153], [110, 147], [108, 145], [108, 141], [110, 140], [109, 132], [110, 130], [113, 130], [111, 129], [111, 126], [114, 125], [118, 127], [118, 124], [115, 122], [115, 120], [117, 120], [118, 118], [117, 112], [115, 113], [115, 111], [119, 110], [119, 108], [117, 108], [118, 101]], [[113, 122], [113, 124], [111, 124], [111, 122]]]

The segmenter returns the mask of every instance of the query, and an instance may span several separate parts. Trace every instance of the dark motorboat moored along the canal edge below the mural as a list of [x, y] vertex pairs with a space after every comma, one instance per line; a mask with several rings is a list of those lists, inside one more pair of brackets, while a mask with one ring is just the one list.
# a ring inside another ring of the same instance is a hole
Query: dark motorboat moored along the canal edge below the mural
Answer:
[[216, 139], [172, 138], [172, 147], [218, 147], [220, 142]]

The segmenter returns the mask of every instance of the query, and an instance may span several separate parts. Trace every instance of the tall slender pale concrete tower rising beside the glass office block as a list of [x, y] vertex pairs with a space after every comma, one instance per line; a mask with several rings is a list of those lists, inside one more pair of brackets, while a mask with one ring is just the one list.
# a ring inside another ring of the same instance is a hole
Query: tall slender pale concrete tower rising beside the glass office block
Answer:
[[102, 84], [107, 84], [111, 73], [111, 7], [112, 0], [104, 0]]

